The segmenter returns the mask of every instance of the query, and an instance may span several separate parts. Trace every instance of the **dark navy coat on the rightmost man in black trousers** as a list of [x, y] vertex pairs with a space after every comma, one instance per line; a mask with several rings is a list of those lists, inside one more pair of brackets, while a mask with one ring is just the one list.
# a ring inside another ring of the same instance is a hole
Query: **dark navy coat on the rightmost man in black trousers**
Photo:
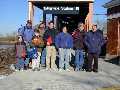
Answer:
[[85, 36], [85, 44], [88, 48], [88, 53], [100, 54], [101, 47], [104, 44], [104, 37], [100, 30], [96, 32], [89, 31]]

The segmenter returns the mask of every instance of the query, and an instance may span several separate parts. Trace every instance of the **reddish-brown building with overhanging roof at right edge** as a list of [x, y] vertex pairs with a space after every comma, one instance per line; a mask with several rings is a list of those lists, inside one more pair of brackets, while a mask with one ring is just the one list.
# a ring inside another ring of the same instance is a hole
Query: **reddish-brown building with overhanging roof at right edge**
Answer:
[[120, 0], [111, 0], [107, 8], [107, 53], [120, 56]]

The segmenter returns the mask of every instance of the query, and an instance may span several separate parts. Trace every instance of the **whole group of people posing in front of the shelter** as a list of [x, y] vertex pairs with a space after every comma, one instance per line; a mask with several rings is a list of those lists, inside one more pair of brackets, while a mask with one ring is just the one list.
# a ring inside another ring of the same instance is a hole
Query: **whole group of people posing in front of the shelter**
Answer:
[[[41, 22], [38, 28], [33, 29], [32, 22], [28, 20], [26, 26], [19, 28], [18, 42], [15, 45], [16, 70], [31, 66], [33, 71], [40, 68], [70, 71], [73, 54], [75, 71], [81, 70], [87, 63], [86, 71], [98, 72], [98, 57], [104, 38], [97, 25], [93, 25], [92, 30], [88, 32], [85, 31], [83, 23], [78, 23], [78, 28], [72, 34], [68, 33], [67, 25], [62, 27], [62, 32], [59, 31], [61, 30], [54, 28], [53, 21], [48, 23], [48, 27]], [[85, 62], [84, 52], [87, 62]]]

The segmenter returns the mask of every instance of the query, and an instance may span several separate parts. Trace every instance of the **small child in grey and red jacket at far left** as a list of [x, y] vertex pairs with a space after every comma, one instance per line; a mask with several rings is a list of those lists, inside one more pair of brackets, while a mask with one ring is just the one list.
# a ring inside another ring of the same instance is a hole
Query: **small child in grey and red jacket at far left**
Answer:
[[26, 48], [22, 36], [18, 36], [18, 42], [15, 44], [16, 50], [16, 71], [24, 70], [25, 57], [26, 57]]

